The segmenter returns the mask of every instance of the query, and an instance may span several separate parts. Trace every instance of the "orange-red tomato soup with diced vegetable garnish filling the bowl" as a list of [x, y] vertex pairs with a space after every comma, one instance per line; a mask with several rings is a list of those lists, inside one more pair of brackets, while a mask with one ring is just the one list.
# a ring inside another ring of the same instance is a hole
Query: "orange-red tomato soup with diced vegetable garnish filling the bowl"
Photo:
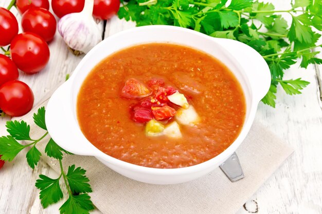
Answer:
[[165, 43], [110, 55], [88, 74], [77, 99], [88, 141], [116, 159], [153, 168], [216, 157], [238, 137], [245, 112], [241, 86], [226, 66]]

